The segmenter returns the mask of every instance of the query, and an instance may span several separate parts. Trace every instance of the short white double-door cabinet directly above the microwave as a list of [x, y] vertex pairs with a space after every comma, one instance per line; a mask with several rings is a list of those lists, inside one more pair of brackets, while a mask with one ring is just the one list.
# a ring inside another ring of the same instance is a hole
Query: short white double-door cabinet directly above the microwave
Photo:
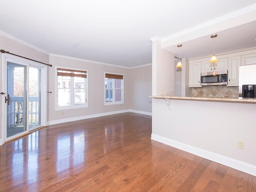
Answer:
[[218, 62], [210, 63], [210, 60], [201, 62], [201, 72], [228, 70], [228, 58], [220, 58]]

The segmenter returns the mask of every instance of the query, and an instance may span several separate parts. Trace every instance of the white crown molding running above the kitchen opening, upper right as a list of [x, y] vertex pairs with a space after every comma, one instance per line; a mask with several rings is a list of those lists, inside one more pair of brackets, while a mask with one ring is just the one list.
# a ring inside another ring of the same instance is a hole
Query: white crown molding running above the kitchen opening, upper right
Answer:
[[[210, 20], [208, 22], [204, 22], [202, 24], [199, 24], [197, 26], [194, 26], [192, 28], [188, 28], [186, 30], [183, 30], [181, 32], [178, 32], [178, 33], [175, 33], [175, 34], [172, 34], [170, 36], [167, 36], [165, 38], [160, 38], [160, 42], [164, 42], [164, 41], [168, 41], [168, 40], [171, 40], [171, 39], [174, 39], [174, 38], [177, 38], [177, 37], [180, 37], [180, 36], [183, 36], [185, 34], [188, 34], [188, 33], [191, 33], [191, 32], [194, 32], [194, 31], [197, 31], [197, 30], [200, 30], [202, 28], [206, 28], [208, 26], [212, 26], [214, 24], [217, 24], [217, 23], [220, 23], [220, 22], [223, 22], [223, 21], [226, 21], [226, 20], [229, 20], [231, 18], [235, 18], [237, 16], [240, 16], [240, 15], [243, 15], [243, 14], [246, 14], [246, 13], [249, 13], [251, 11], [255, 11], [256, 10], [256, 4], [253, 4], [251, 6], [248, 6], [246, 8], [243, 8], [243, 9], [240, 9], [240, 10], [237, 10], [235, 12], [232, 12], [230, 14], [226, 14], [224, 16], [221, 16], [221, 17], [218, 17], [218, 18], [215, 18], [213, 20]], [[151, 40], [151, 39], [150, 39]]]

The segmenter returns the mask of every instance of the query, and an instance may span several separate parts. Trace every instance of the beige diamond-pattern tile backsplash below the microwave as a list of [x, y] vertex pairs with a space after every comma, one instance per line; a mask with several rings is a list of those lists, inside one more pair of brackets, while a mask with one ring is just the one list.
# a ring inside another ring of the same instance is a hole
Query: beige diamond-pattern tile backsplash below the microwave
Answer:
[[192, 88], [192, 97], [223, 97], [238, 98], [238, 87], [227, 87], [226, 85], [202, 86]]

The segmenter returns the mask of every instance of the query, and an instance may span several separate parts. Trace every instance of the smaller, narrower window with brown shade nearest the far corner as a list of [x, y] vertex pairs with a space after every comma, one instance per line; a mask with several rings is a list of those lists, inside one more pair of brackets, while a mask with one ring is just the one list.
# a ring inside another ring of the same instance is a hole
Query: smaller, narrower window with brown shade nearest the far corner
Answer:
[[105, 73], [105, 105], [124, 103], [124, 75]]

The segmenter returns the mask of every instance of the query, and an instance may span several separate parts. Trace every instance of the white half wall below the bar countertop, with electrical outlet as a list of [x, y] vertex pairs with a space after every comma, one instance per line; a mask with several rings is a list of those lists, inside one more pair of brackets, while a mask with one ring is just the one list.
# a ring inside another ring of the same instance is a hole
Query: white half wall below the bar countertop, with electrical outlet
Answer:
[[[152, 138], [256, 176], [256, 104], [152, 99]], [[244, 149], [237, 141], [244, 141]]]

